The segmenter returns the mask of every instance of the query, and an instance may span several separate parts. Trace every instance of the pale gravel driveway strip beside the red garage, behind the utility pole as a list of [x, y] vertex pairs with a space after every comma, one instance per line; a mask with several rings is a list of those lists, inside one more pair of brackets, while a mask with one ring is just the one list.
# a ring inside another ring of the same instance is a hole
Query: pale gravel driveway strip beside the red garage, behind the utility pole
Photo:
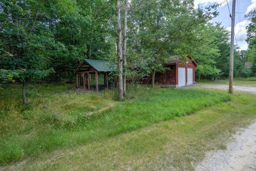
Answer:
[[[228, 85], [202, 84], [201, 86], [205, 87], [205, 88], [228, 90]], [[237, 92], [246, 92], [246, 93], [256, 94], [256, 87], [233, 86], [233, 89], [234, 89], [234, 91], [237, 91]]]

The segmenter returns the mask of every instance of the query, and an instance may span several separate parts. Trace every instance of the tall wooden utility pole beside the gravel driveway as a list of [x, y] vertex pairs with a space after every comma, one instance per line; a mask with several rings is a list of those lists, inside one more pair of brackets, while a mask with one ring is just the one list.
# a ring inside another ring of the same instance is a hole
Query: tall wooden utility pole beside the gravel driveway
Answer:
[[236, 0], [233, 0], [233, 3], [232, 3], [232, 15], [231, 15], [229, 93], [233, 93], [235, 13], [236, 13]]

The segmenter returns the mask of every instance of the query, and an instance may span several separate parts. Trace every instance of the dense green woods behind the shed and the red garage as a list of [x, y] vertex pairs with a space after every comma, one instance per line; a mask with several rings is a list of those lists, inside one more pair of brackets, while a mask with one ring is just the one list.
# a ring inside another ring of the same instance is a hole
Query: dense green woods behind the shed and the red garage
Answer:
[[[2, 0], [1, 83], [16, 80], [23, 84], [25, 91], [29, 80], [47, 78], [58, 81], [63, 77], [72, 80], [76, 67], [85, 58], [117, 63], [116, 2]], [[165, 70], [162, 63], [167, 62], [169, 56], [186, 54], [193, 56], [198, 63], [198, 79], [228, 76], [229, 32], [220, 23], [210, 22], [218, 15], [218, 4], [195, 9], [194, 0], [125, 2], [120, 3], [121, 19], [127, 7], [124, 80], [126, 76], [154, 76], [155, 72]], [[254, 20], [255, 13], [251, 12], [248, 18]], [[124, 34], [124, 23], [122, 20], [121, 34]], [[250, 31], [254, 28], [255, 23], [249, 27], [248, 56], [255, 52]], [[246, 72], [242, 57], [237, 49], [235, 76], [243, 76], [242, 73]], [[252, 57], [247, 59], [253, 61]]]

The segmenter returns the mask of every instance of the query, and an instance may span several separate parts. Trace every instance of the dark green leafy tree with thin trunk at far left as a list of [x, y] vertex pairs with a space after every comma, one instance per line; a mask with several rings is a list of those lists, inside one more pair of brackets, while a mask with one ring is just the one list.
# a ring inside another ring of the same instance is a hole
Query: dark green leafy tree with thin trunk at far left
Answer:
[[[46, 77], [47, 46], [54, 44], [49, 29], [40, 23], [41, 4], [36, 1], [0, 3], [1, 69], [15, 73], [22, 82], [23, 104], [26, 104], [26, 82]], [[2, 70], [3, 71], [3, 70]]]

